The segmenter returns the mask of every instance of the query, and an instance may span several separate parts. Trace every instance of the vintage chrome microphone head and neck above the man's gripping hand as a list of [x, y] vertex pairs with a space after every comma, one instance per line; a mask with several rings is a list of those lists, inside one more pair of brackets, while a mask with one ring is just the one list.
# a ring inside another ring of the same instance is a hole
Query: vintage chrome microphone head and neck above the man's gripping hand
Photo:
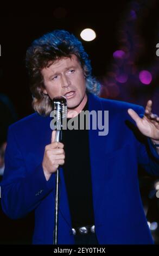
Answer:
[[56, 118], [56, 137], [55, 141], [60, 142], [62, 139], [62, 128], [67, 123], [67, 100], [65, 96], [56, 96], [53, 99], [53, 111]]

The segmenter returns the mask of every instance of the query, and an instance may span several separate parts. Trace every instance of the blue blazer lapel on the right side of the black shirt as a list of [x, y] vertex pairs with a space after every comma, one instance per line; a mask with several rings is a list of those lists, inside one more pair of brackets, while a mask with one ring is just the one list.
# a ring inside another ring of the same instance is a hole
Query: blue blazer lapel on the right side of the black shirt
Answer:
[[[89, 111], [103, 111], [101, 101], [97, 96], [89, 94], [88, 109]], [[90, 127], [92, 127], [91, 125], [92, 121], [90, 123]], [[97, 223], [96, 218], [99, 206], [101, 205], [101, 199], [103, 197], [103, 187], [105, 186], [105, 172], [107, 171], [105, 167], [105, 153], [108, 144], [108, 136], [99, 136], [99, 131], [98, 125], [96, 130], [89, 130], [93, 208], [94, 218], [97, 225], [100, 224]]]

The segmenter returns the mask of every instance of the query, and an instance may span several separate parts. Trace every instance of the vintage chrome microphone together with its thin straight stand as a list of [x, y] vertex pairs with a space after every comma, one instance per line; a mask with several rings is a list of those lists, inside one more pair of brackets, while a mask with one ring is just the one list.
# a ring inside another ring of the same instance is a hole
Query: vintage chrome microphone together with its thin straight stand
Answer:
[[[56, 96], [53, 99], [53, 111], [56, 118], [56, 136], [55, 141], [60, 142], [62, 139], [63, 121], [67, 124], [67, 100], [65, 96]], [[58, 220], [59, 220], [59, 182], [60, 174], [59, 168], [56, 172], [55, 184], [55, 215], [54, 215], [54, 231], [53, 231], [53, 245], [58, 245]]]

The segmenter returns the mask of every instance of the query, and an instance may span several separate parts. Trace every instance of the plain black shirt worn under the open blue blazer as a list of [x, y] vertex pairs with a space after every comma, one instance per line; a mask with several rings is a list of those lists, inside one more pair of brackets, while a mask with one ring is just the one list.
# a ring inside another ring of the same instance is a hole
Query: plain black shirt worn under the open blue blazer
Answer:
[[[87, 103], [82, 109], [88, 109]], [[80, 114], [73, 118], [79, 119]], [[72, 119], [72, 120], [73, 120]], [[67, 122], [70, 119], [67, 118]], [[72, 227], [94, 224], [88, 130], [63, 130], [63, 173], [71, 211]]]

